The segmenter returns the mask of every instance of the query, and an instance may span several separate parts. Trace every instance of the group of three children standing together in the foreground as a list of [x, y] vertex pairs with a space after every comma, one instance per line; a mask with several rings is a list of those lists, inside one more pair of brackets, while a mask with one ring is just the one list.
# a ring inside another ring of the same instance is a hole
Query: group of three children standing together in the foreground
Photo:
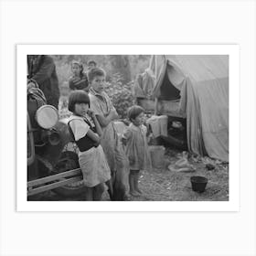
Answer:
[[[75, 77], [79, 73], [73, 65]], [[84, 83], [81, 72], [76, 84]], [[133, 197], [143, 193], [140, 171], [151, 168], [144, 109], [134, 105], [128, 110], [131, 123], [120, 139], [114, 124], [118, 114], [104, 91], [105, 77], [103, 69], [93, 67], [86, 74], [88, 85], [70, 92], [69, 132], [80, 149], [86, 200], [101, 200], [104, 184], [112, 200], [126, 200], [128, 191]]]

